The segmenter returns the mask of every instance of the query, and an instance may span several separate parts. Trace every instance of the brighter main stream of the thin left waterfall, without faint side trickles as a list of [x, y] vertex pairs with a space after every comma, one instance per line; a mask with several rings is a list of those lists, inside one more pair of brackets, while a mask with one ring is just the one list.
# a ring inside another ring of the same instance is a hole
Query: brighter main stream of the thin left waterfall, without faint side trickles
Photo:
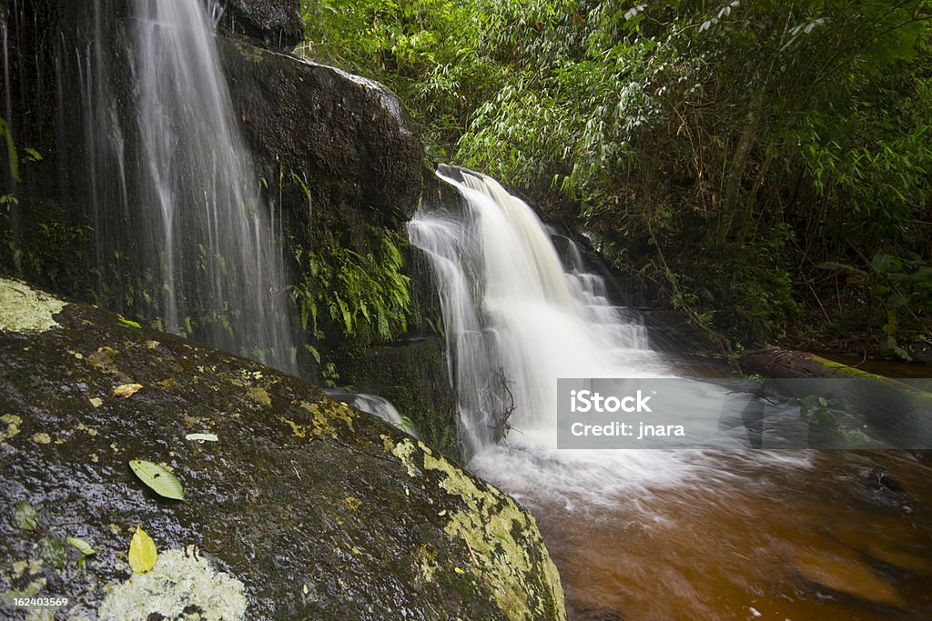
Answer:
[[[179, 295], [187, 291], [198, 298], [190, 302], [223, 317], [210, 327], [214, 344], [245, 354], [258, 350], [287, 369], [287, 327], [275, 316], [284, 310], [280, 250], [258, 204], [212, 17], [199, 0], [136, 0], [133, 19], [145, 196], [155, 216], [150, 261], [160, 261], [168, 285], [166, 327], [184, 324], [194, 305]], [[230, 307], [240, 325], [230, 325]]]

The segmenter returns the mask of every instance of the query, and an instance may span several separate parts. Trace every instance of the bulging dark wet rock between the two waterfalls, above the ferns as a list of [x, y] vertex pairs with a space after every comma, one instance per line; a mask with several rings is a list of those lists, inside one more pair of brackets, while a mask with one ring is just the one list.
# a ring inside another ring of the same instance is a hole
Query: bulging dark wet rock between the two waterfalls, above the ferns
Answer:
[[332, 67], [217, 43], [243, 133], [296, 223], [397, 228], [411, 217], [421, 145], [391, 91]]

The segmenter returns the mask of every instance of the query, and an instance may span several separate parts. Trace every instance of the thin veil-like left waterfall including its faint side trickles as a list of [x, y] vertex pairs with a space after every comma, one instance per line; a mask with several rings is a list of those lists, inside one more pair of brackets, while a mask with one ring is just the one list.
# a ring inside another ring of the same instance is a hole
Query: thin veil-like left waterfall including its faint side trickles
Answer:
[[[97, 294], [294, 371], [281, 240], [218, 61], [219, 5], [205, 4], [130, 0], [128, 32], [107, 0], [75, 8], [91, 13], [93, 34], [78, 34], [77, 85], [60, 82], [59, 108], [76, 91]], [[73, 61], [67, 46], [62, 64]]]

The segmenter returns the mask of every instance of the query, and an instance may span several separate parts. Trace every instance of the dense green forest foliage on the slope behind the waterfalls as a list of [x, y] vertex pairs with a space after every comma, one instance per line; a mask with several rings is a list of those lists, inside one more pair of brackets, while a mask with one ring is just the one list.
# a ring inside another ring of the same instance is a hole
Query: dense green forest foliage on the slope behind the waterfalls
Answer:
[[[315, 0], [308, 56], [727, 348], [932, 342], [932, 6]], [[567, 210], [561, 211], [566, 215]]]

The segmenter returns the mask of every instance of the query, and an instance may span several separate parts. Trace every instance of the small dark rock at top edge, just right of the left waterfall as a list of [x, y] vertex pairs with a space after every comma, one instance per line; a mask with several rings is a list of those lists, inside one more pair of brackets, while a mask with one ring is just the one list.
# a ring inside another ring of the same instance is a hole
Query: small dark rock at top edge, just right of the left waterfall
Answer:
[[226, 0], [223, 23], [271, 49], [288, 51], [304, 40], [297, 0]]

